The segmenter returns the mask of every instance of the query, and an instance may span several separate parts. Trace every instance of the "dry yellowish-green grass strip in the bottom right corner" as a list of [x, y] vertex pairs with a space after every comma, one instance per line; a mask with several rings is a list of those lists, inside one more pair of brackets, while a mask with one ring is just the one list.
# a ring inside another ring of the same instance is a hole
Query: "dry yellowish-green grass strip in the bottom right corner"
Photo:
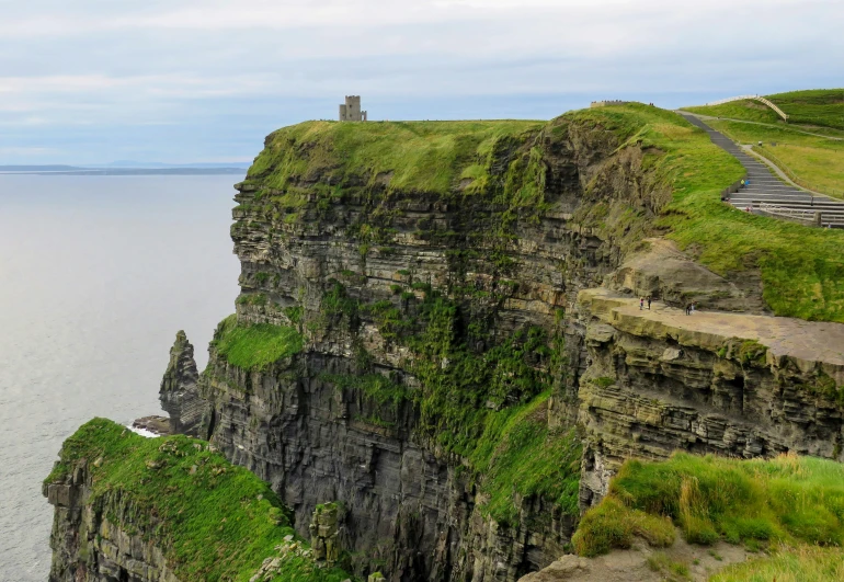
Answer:
[[801, 546], [773, 556], [729, 566], [709, 582], [832, 582], [844, 580], [844, 552], [839, 548]]

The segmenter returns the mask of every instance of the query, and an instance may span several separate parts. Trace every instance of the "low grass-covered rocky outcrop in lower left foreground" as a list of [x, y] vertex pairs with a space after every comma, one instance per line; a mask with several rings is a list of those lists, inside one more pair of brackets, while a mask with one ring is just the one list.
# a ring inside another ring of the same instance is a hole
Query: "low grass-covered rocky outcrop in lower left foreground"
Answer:
[[144, 438], [94, 419], [44, 481], [50, 582], [340, 582], [294, 538], [289, 512], [208, 443]]

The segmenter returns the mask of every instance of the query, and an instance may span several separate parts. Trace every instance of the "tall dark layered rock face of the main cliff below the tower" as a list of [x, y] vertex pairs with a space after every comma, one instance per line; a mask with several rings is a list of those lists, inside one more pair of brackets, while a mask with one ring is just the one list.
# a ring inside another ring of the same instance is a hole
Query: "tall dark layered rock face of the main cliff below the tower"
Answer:
[[[477, 422], [474, 412], [465, 423], [438, 418], [446, 399], [435, 401], [426, 387], [459, 380], [465, 367], [495, 368], [495, 350], [522, 334], [503, 347], [514, 367], [474, 372], [495, 390], [472, 386], [463, 406], [503, 418], [527, 403], [538, 430], [573, 426], [580, 347], [577, 341], [563, 347], [564, 312], [621, 255], [613, 237], [584, 226], [591, 220], [584, 201], [603, 196], [601, 212], [612, 214], [613, 193], [642, 215], [653, 202], [626, 178], [639, 171], [642, 152], [614, 153], [617, 145], [611, 134], [580, 126], [561, 138], [502, 139], [487, 160], [498, 190], [476, 196], [465, 182], [443, 195], [391, 189], [389, 175], [367, 184], [345, 174], [343, 187], [327, 197], [323, 187], [337, 180], [332, 168], [290, 176], [283, 186], [274, 170], [253, 169], [238, 186], [232, 227], [242, 264], [238, 324], [296, 327], [306, 349], [243, 369], [213, 345], [198, 387], [178, 384], [175, 392], [209, 403], [215, 444], [272, 483], [296, 512], [300, 533], [317, 504], [341, 502], [343, 545], [361, 572], [513, 581], [549, 563], [569, 540], [575, 505], [507, 492], [501, 497], [510, 515], [501, 520], [489, 509], [498, 498], [484, 490], [483, 471], [467, 458], [484, 425], [465, 425]], [[274, 147], [270, 138], [265, 155]], [[301, 158], [319, 148], [307, 139], [280, 147]], [[536, 166], [525, 179], [541, 185], [535, 198], [522, 207], [495, 202], [495, 192], [512, 187], [506, 174], [518, 164]], [[447, 311], [445, 346], [431, 336], [443, 322], [433, 319], [437, 309]], [[569, 358], [573, 373], [568, 364], [562, 369]], [[524, 391], [512, 379], [540, 374]], [[406, 396], [385, 397], [367, 384], [381, 379]], [[533, 400], [540, 393], [540, 402]], [[579, 450], [574, 458], [577, 486]]]

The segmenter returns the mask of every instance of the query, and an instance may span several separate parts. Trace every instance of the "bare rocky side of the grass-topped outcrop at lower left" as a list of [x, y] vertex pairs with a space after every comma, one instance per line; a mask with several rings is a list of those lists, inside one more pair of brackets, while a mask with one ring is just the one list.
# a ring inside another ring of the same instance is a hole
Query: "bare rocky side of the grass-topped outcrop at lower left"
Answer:
[[88, 463], [76, 464], [61, 481], [44, 483], [44, 497], [55, 506], [49, 582], [179, 582], [155, 538], [112, 522], [132, 511], [119, 495], [90, 502]]

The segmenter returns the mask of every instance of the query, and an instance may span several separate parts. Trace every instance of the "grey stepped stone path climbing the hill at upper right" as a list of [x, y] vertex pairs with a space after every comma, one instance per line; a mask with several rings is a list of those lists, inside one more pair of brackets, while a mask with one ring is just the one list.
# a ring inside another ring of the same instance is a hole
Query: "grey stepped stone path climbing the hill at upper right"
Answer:
[[784, 183], [771, 168], [745, 152], [720, 132], [706, 125], [703, 119], [691, 113], [678, 113], [692, 125], [709, 134], [709, 138], [715, 145], [735, 157], [748, 170], [750, 185], [731, 196], [730, 203], [733, 206], [741, 209], [751, 207], [759, 210], [759, 204], [765, 203], [786, 210], [819, 212], [823, 226], [832, 225], [833, 228], [844, 228], [844, 203]]

